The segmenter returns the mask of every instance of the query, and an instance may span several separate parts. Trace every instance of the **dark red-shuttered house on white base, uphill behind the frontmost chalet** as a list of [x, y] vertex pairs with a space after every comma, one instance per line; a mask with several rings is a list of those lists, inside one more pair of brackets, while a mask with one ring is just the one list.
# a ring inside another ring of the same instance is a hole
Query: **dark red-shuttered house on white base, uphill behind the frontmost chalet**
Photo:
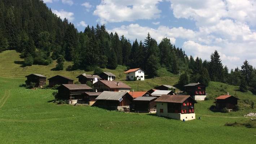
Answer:
[[206, 97], [205, 85], [203, 83], [190, 83], [184, 86], [188, 95], [195, 100], [204, 100]]

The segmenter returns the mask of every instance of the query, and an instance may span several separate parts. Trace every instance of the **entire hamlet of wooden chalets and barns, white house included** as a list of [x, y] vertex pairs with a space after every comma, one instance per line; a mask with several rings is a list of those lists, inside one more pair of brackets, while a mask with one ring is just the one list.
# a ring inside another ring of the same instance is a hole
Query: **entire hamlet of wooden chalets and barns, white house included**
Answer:
[[[126, 80], [144, 80], [144, 71], [141, 68], [130, 69], [124, 72]], [[27, 75], [27, 82], [35, 83], [36, 87], [46, 84], [46, 77], [40, 74]], [[60, 85], [58, 95], [68, 100], [69, 104], [88, 104], [109, 110], [125, 112], [156, 113], [157, 116], [169, 117], [183, 121], [195, 119], [196, 100], [206, 97], [205, 85], [190, 83], [184, 86], [186, 95], [175, 93], [175, 87], [161, 85], [148, 91], [131, 90], [123, 82], [115, 81], [116, 75], [103, 72], [100, 75], [78, 75], [81, 84], [73, 84], [73, 79], [56, 75], [49, 78], [49, 86]], [[86, 85], [91, 82], [92, 87]], [[233, 109], [237, 105], [237, 97], [222, 95], [214, 102], [217, 109]]]

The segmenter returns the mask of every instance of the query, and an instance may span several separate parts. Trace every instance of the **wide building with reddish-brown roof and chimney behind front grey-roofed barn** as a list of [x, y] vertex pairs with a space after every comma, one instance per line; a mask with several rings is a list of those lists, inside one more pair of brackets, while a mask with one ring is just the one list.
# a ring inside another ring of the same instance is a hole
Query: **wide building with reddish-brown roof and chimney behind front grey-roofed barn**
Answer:
[[94, 84], [94, 90], [99, 92], [114, 91], [114, 92], [130, 92], [131, 87], [123, 82], [99, 80]]

